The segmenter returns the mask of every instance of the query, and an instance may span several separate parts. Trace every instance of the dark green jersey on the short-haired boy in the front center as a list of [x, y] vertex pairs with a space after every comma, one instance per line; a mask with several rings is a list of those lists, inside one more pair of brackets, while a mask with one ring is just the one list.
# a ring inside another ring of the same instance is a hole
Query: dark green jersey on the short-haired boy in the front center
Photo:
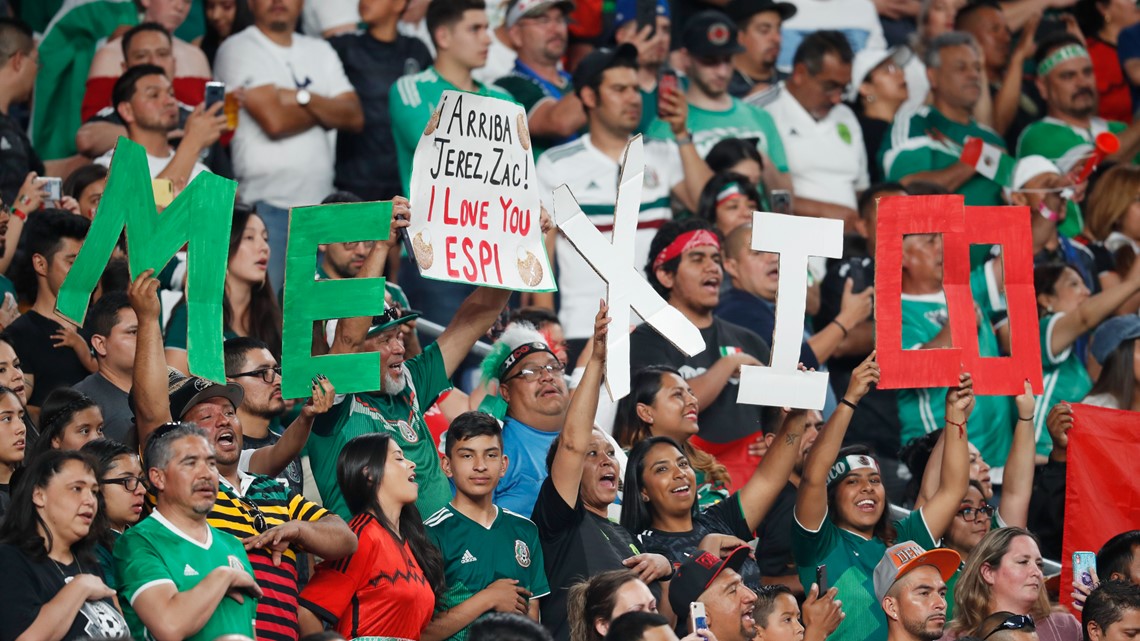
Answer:
[[[424, 519], [427, 538], [443, 555], [443, 575], [447, 593], [437, 609], [449, 610], [500, 578], [519, 581], [532, 599], [546, 597], [543, 547], [538, 543], [538, 528], [530, 519], [510, 510], [497, 508], [491, 527], [486, 528], [469, 519], [451, 505], [445, 505]], [[465, 641], [467, 628], [451, 639]]]

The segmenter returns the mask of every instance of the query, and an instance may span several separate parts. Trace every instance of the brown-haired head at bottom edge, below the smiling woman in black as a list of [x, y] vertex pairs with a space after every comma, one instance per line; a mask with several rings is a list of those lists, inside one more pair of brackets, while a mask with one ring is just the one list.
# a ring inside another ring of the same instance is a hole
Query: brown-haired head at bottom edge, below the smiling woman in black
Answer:
[[657, 599], [629, 569], [589, 575], [570, 586], [567, 618], [572, 641], [602, 641], [626, 612], [657, 612]]

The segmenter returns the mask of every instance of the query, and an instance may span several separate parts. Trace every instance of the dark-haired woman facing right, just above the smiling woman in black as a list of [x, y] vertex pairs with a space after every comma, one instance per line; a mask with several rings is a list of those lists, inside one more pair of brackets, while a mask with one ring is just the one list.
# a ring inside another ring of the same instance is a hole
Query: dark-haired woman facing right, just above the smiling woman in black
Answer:
[[732, 481], [728, 470], [715, 456], [689, 440], [699, 430], [700, 411], [700, 400], [675, 367], [643, 367], [634, 372], [629, 393], [618, 401], [613, 440], [627, 452], [651, 436], [666, 436], [679, 443], [697, 473], [697, 506], [703, 510], [727, 498]]

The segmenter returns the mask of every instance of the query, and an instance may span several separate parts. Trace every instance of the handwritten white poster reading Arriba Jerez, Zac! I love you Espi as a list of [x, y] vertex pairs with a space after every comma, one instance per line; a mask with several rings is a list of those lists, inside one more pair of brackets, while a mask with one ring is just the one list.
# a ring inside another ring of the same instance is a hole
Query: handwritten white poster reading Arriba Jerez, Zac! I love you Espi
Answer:
[[521, 106], [445, 91], [412, 161], [410, 202], [408, 234], [424, 277], [555, 290]]

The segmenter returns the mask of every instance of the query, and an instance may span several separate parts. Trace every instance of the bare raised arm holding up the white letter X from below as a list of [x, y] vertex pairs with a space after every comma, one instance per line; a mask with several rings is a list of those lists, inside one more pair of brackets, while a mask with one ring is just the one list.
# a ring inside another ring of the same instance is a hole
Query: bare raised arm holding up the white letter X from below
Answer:
[[586, 372], [578, 383], [578, 391], [570, 399], [567, 420], [559, 438], [559, 451], [551, 464], [551, 478], [559, 496], [567, 505], [578, 505], [578, 487], [581, 485], [581, 465], [586, 460], [586, 448], [594, 431], [597, 414], [597, 397], [605, 370], [605, 334], [610, 324], [609, 308], [602, 301], [594, 317], [594, 349], [586, 363]]

